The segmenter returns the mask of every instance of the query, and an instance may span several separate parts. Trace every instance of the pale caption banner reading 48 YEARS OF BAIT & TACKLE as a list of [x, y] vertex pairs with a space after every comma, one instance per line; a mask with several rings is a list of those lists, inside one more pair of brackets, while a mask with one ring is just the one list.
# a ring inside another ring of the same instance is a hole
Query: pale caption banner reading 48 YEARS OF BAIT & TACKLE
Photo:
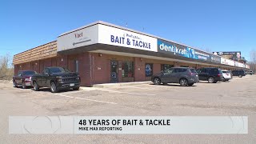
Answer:
[[10, 116], [9, 134], [248, 134], [248, 117]]

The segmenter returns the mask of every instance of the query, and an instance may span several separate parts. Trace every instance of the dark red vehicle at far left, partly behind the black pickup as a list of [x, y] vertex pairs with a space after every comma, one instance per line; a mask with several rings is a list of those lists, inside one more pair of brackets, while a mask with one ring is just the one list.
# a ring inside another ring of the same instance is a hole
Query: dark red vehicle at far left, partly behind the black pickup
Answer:
[[22, 89], [26, 89], [28, 86], [31, 86], [31, 76], [37, 74], [33, 70], [20, 70], [18, 74], [13, 77], [14, 87], [22, 86]]

